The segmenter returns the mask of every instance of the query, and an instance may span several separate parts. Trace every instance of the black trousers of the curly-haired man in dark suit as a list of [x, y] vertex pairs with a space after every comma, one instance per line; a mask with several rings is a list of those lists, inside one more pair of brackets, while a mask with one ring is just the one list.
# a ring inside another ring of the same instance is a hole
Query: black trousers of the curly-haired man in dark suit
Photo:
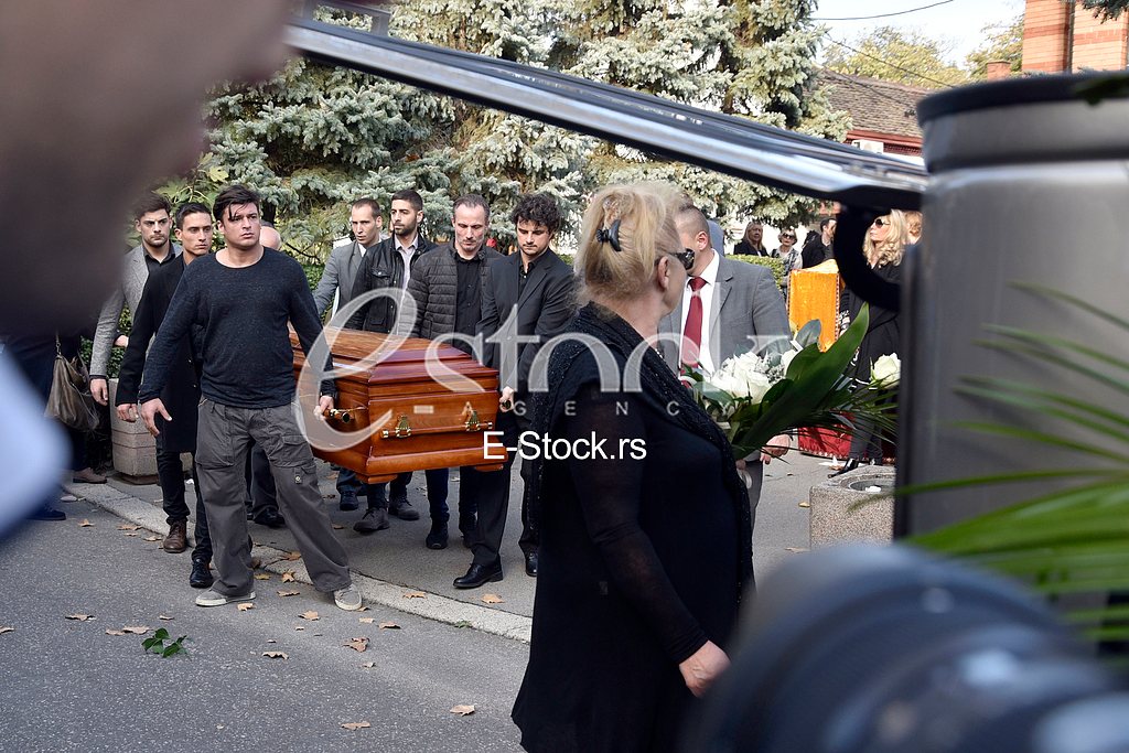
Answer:
[[[517, 447], [518, 437], [531, 427], [528, 417], [515, 415], [513, 411], [498, 413], [498, 430], [502, 436], [497, 439], [506, 447]], [[471, 549], [474, 552], [474, 564], [490, 567], [501, 560], [501, 540], [506, 533], [506, 517], [509, 515], [509, 479], [517, 453], [508, 453], [509, 458], [501, 471], [479, 473], [479, 526], [472, 537]], [[528, 484], [526, 466], [522, 465], [523, 484]], [[518, 546], [526, 554], [535, 554], [537, 539], [530, 529], [530, 520], [525, 506], [522, 506], [522, 536]]]

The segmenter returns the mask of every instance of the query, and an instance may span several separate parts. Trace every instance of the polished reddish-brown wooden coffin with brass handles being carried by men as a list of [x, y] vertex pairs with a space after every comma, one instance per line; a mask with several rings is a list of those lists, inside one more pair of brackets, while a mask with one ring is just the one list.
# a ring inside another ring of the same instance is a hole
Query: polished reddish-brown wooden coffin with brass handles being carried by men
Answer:
[[[340, 394], [323, 422], [313, 417], [317, 386], [301, 378], [306, 356], [290, 332], [314, 455], [355, 471], [366, 483], [391, 481], [405, 471], [502, 467], [506, 450], [499, 439], [490, 437], [495, 445], [484, 449], [498, 412], [496, 370], [430, 340], [334, 327], [325, 335]], [[352, 373], [342, 375], [342, 369]]]

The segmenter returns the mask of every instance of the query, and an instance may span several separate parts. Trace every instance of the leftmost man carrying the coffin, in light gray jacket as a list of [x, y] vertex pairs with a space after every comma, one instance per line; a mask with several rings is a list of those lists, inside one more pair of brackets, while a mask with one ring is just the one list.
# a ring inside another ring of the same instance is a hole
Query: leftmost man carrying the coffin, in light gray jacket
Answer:
[[135, 314], [149, 272], [168, 264], [181, 254], [181, 247], [170, 242], [172, 211], [168, 199], [158, 193], [148, 194], [133, 209], [133, 227], [141, 234], [141, 243], [122, 260], [122, 284], [114, 289], [110, 300], [102, 307], [90, 352], [90, 392], [103, 405], [110, 401], [106, 382], [110, 353], [115, 344], [122, 348], [128, 344], [128, 339], [117, 335], [122, 307], [129, 306], [130, 313]]

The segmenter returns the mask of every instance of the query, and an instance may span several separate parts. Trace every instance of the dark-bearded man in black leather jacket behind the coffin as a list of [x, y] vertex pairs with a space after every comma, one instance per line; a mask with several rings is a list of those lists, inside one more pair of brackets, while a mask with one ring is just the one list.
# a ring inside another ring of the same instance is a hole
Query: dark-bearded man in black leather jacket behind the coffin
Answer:
[[[387, 290], [394, 296], [403, 295], [411, 280], [413, 269], [419, 259], [435, 247], [430, 240], [419, 233], [423, 220], [423, 198], [411, 189], [392, 194], [392, 208], [388, 212], [392, 224], [392, 237], [370, 248], [360, 266], [353, 282], [350, 299], [359, 298], [370, 290]], [[397, 298], [377, 297], [366, 301], [345, 323], [347, 327], [388, 334], [396, 324]], [[438, 476], [429, 476], [430, 484]], [[408, 484], [411, 473], [401, 473], [392, 481], [391, 499], [388, 484], [369, 484], [366, 488], [368, 509], [365, 516], [353, 524], [353, 531], [373, 533], [388, 527], [388, 515], [395, 515], [403, 520], [419, 520], [419, 511], [408, 501]], [[446, 483], [446, 481], [444, 481]], [[341, 496], [341, 509], [357, 509], [357, 491]]]

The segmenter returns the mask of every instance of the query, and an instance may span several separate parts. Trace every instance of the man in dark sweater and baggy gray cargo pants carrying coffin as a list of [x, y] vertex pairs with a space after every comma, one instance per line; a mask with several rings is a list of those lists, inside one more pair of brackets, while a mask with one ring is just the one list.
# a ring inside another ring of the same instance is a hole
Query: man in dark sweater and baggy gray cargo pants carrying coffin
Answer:
[[[322, 504], [314, 454], [295, 405], [294, 350], [287, 323], [309, 353], [321, 334], [306, 274], [298, 262], [260, 243], [259, 194], [225, 189], [212, 216], [227, 246], [185, 270], [160, 332], [149, 350], [138, 401], [155, 436], [160, 401], [180, 340], [200, 325], [203, 400], [198, 411], [196, 472], [215, 549], [216, 581], [196, 597], [220, 606], [255, 597], [244, 513], [244, 464], [252, 440], [266, 453], [279, 504], [314, 586], [333, 593], [343, 610], [359, 610], [360, 592]], [[323, 384], [315, 414], [333, 408], [332, 383]]]

